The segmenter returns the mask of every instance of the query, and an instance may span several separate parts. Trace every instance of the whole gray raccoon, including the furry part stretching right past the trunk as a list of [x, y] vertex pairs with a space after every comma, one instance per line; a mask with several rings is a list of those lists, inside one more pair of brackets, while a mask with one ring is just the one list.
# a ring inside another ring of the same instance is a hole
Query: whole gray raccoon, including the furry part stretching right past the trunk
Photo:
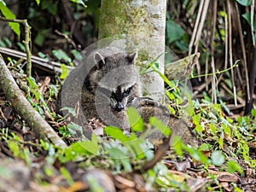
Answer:
[[[141, 97], [136, 52], [129, 54], [108, 47], [86, 54], [79, 67], [68, 75], [57, 105], [59, 109], [77, 108], [79, 113], [73, 119], [75, 123], [88, 128], [88, 121], [96, 118], [104, 125], [117, 126], [128, 132], [130, 125], [125, 109], [132, 106], [146, 123], [151, 116], [156, 116], [172, 131], [176, 131], [185, 143], [196, 145], [182, 119], [170, 115], [169, 110], [160, 103]], [[84, 134], [90, 137], [90, 130], [85, 129]], [[160, 131], [153, 129], [147, 138], [154, 141], [163, 137]]]

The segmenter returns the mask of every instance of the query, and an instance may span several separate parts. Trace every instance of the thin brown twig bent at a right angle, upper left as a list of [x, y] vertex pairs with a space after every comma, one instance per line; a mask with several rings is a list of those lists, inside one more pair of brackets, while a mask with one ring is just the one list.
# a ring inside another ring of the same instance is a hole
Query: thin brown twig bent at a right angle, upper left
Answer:
[[9, 21], [9, 22], [15, 22], [20, 23], [25, 27], [25, 40], [23, 41], [23, 44], [25, 45], [26, 49], [26, 75], [27, 77], [31, 77], [31, 69], [32, 69], [32, 62], [31, 62], [31, 26], [27, 24], [27, 20], [17, 20], [17, 19], [7, 19], [5, 17], [0, 16], [0, 20], [3, 21]]

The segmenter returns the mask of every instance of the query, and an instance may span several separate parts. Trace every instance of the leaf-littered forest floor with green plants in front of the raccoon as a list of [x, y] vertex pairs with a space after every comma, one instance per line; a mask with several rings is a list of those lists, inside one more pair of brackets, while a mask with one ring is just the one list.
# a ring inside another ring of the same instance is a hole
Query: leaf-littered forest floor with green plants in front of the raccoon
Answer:
[[95, 137], [85, 140], [74, 137], [81, 127], [55, 112], [56, 76], [38, 74], [24, 96], [67, 148], [40, 140], [1, 90], [0, 191], [256, 191], [255, 109], [241, 116], [224, 103], [190, 100], [189, 130], [198, 148], [180, 142], [166, 149], [165, 140], [126, 145], [122, 134], [105, 143], [97, 119], [90, 121]]

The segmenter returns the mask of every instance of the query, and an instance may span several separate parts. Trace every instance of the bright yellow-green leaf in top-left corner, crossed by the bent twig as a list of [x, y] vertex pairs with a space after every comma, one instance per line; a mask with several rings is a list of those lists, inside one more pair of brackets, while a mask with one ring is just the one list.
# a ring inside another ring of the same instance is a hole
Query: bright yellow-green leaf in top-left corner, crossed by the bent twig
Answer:
[[[8, 9], [8, 7], [6, 7], [6, 4], [3, 3], [3, 1], [0, 1], [0, 10], [1, 10], [3, 16], [6, 17], [7, 19], [15, 19], [16, 18], [15, 14], [10, 9]], [[16, 35], [18, 35], [18, 37], [20, 38], [20, 24], [14, 23], [14, 22], [9, 22], [9, 26], [16, 33]]]

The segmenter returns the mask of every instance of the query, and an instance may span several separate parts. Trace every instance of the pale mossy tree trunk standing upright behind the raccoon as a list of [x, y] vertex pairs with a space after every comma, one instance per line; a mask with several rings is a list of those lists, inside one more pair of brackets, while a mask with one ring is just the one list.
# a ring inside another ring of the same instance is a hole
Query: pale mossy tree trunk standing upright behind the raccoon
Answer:
[[[166, 0], [102, 0], [99, 39], [125, 34], [131, 37], [138, 49], [138, 61], [157, 63], [164, 73], [166, 31]], [[147, 96], [163, 102], [164, 82], [157, 73], [145, 73], [143, 91]]]

